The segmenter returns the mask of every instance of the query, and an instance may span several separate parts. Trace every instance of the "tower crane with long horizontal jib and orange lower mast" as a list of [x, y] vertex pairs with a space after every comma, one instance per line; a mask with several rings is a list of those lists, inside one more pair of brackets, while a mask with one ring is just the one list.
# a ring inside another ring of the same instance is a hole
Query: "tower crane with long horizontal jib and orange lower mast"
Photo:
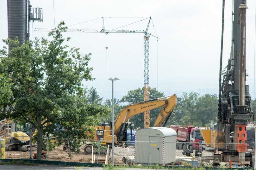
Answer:
[[[121, 26], [119, 28], [116, 29], [105, 29], [105, 25], [104, 25], [104, 17], [102, 17], [102, 29], [98, 30], [98, 29], [67, 29], [66, 32], [87, 32], [87, 33], [105, 33], [105, 34], [109, 34], [109, 33], [143, 33], [144, 34], [144, 101], [149, 100], [149, 38], [150, 36], [153, 36], [155, 38], [159, 38], [157, 35], [152, 35], [151, 33], [148, 32], [148, 28], [149, 28], [149, 24], [150, 22], [152, 22], [152, 18], [147, 17], [145, 19], [142, 19], [140, 21], [143, 20], [147, 20], [148, 19], [148, 23], [147, 23], [147, 27], [145, 30], [140, 30], [140, 29], [119, 29], [122, 28], [124, 26]], [[92, 21], [92, 20], [90, 20]], [[139, 21], [137, 21], [139, 22]], [[136, 22], [134, 22], [136, 23]], [[134, 24], [131, 23], [131, 24]], [[128, 24], [128, 25], [131, 25]], [[125, 25], [125, 26], [128, 26]], [[154, 25], [153, 25], [154, 26]], [[43, 32], [51, 32], [54, 29], [49, 29], [49, 28], [35, 28], [35, 31], [43, 31]], [[107, 49], [107, 48], [106, 48]], [[144, 128], [146, 127], [150, 127], [150, 111], [146, 111], [144, 112]]]

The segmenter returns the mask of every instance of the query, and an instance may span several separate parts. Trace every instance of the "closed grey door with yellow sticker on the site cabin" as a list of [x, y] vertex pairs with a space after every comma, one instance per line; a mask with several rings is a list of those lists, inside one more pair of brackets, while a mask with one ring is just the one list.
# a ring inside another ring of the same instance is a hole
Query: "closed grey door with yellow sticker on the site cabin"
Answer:
[[149, 137], [149, 141], [151, 141], [151, 146], [150, 146], [150, 158], [151, 158], [151, 163], [161, 163], [162, 160], [162, 147], [160, 143], [160, 137]]

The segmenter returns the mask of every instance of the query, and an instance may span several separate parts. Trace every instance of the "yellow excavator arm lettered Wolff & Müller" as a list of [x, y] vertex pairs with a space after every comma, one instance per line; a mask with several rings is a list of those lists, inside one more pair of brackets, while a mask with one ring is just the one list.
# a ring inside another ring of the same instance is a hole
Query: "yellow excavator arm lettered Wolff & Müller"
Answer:
[[172, 95], [129, 105], [118, 114], [114, 125], [114, 134], [117, 135], [122, 124], [126, 123], [131, 117], [159, 107], [162, 108], [157, 116], [154, 126], [161, 126], [174, 109], [176, 103], [177, 97], [176, 95]]

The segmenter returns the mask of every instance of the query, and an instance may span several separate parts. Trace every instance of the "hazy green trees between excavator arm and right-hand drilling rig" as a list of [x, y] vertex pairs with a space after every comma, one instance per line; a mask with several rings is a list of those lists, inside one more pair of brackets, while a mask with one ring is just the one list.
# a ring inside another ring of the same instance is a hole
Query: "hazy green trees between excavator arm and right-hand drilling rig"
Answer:
[[199, 96], [196, 92], [183, 93], [177, 98], [177, 105], [168, 125], [209, 126], [215, 120], [218, 98], [215, 94]]

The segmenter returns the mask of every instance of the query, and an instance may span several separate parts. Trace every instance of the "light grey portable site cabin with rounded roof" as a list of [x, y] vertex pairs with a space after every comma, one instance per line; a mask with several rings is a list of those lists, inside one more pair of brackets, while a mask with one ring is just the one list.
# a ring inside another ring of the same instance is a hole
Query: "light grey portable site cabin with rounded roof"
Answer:
[[135, 162], [165, 165], [175, 162], [175, 130], [168, 127], [149, 127], [135, 133]]

